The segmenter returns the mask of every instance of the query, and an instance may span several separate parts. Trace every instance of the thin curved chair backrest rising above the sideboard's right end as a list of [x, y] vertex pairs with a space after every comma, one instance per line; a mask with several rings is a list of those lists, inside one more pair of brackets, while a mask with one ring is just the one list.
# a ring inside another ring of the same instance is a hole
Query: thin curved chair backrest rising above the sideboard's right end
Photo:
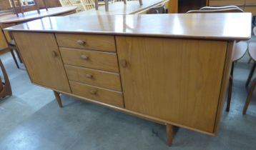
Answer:
[[244, 12], [237, 6], [206, 6], [202, 7], [200, 10], [187, 11], [187, 14], [191, 13], [228, 13], [228, 12]]

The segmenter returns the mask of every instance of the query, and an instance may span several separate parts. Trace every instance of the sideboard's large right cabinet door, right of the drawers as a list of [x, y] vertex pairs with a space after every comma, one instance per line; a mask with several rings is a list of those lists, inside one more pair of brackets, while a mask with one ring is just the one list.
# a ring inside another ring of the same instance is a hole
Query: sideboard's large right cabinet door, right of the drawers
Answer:
[[213, 133], [225, 41], [116, 39], [126, 109]]

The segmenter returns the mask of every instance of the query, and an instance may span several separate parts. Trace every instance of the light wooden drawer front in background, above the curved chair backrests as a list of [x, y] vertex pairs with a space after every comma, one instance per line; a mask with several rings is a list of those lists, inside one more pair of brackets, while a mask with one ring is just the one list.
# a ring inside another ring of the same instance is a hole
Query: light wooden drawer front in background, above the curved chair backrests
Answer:
[[245, 4], [245, 0], [210, 0], [209, 6], [228, 6], [228, 5], [236, 5], [243, 6]]

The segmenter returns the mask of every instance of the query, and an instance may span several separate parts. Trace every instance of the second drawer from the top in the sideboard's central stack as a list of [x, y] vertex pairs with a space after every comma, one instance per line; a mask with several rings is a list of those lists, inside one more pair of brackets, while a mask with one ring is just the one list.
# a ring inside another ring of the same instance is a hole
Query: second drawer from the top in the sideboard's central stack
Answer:
[[60, 48], [60, 51], [64, 64], [119, 72], [116, 53], [69, 48]]

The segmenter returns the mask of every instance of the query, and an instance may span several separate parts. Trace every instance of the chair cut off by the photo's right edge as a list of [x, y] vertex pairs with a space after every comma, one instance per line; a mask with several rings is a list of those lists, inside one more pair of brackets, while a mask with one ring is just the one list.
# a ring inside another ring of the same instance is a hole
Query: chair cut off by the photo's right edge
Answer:
[[[254, 31], [254, 34], [256, 35], [256, 27], [254, 28], [253, 31]], [[247, 79], [247, 82], [246, 82], [246, 87], [249, 86], [250, 81], [252, 79], [252, 76], [255, 72], [255, 68], [256, 68], [256, 42], [250, 42], [250, 44], [249, 44], [249, 54], [250, 54], [252, 60], [254, 61], [253, 62], [254, 64], [253, 64], [252, 69], [250, 71], [250, 74], [248, 76], [248, 79]], [[247, 95], [247, 99], [245, 101], [245, 106], [244, 106], [244, 109], [242, 111], [242, 114], [246, 114], [246, 111], [247, 111], [248, 106], [250, 104], [250, 101], [252, 99], [253, 91], [255, 91], [255, 86], [256, 86], [256, 79], [254, 81], [252, 81], [249, 93]]]

